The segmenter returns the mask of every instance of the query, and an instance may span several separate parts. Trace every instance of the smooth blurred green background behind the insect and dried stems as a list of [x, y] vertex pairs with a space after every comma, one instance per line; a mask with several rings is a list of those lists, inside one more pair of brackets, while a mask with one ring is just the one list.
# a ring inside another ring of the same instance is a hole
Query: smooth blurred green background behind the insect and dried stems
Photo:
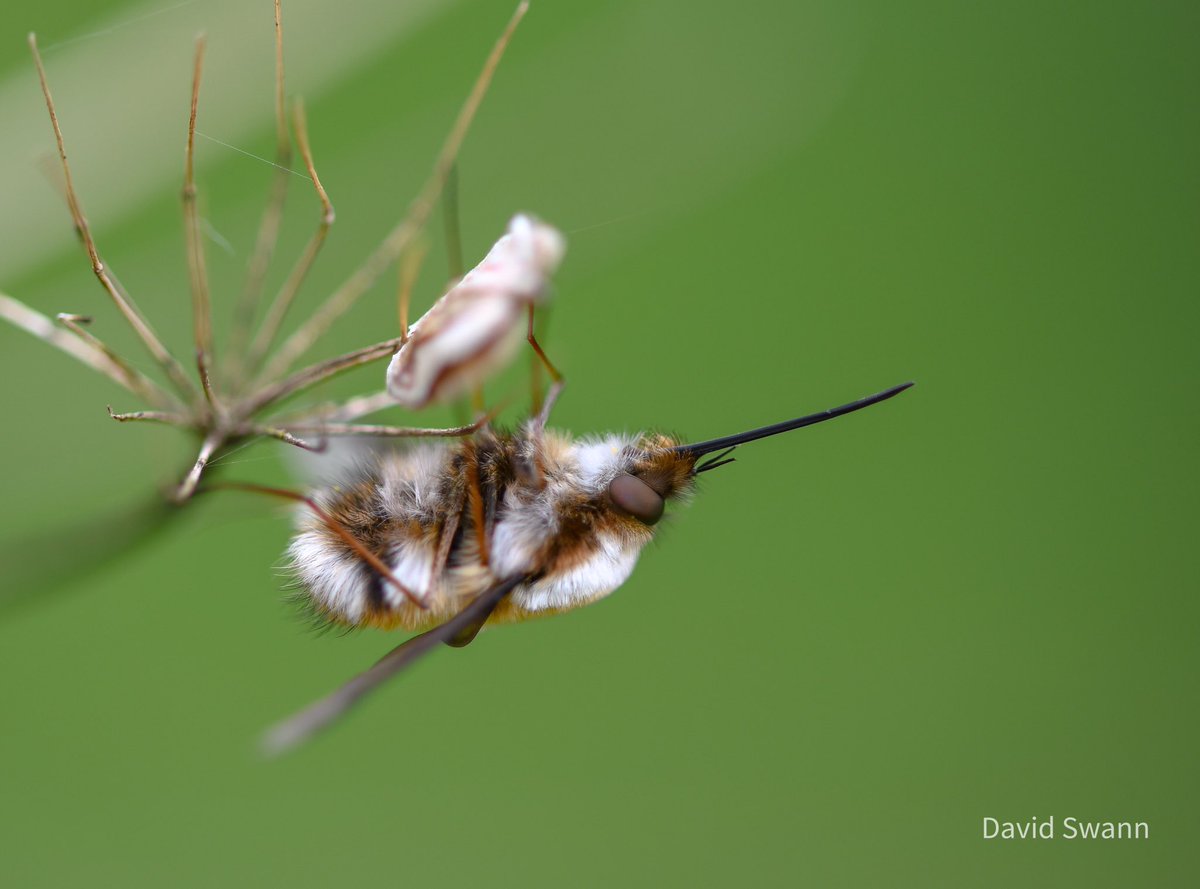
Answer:
[[[403, 212], [511, 6], [286, 6], [338, 211], [307, 305]], [[260, 729], [396, 638], [307, 632], [280, 593], [287, 511], [197, 503], [4, 615], [0, 879], [1194, 884], [1198, 18], [535, 0], [462, 155], [462, 221], [469, 257], [521, 209], [569, 233], [556, 424], [707, 438], [919, 385], [745, 447], [611, 599], [438, 653], [277, 762]], [[0, 289], [131, 354], [41, 172], [24, 35], [103, 252], [186, 354], [200, 29], [200, 130], [270, 156], [266, 0], [2, 13]], [[228, 317], [271, 172], [199, 151]], [[316, 221], [305, 185], [282, 256]], [[443, 269], [434, 246], [421, 305]], [[390, 336], [391, 288], [320, 354]], [[107, 403], [137, 407], [0, 329], [7, 594], [187, 462]], [[287, 481], [281, 451], [228, 475]], [[984, 816], [1151, 839], [985, 842]]]

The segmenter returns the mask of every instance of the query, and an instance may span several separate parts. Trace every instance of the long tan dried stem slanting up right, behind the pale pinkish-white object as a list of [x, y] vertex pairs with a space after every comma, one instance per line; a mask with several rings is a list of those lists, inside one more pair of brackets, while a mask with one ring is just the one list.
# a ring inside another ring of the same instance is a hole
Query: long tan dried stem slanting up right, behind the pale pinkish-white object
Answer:
[[492, 76], [496, 73], [496, 67], [499, 65], [500, 58], [504, 55], [504, 49], [508, 47], [509, 41], [512, 37], [512, 32], [524, 17], [528, 7], [529, 4], [522, 0], [522, 2], [517, 6], [516, 12], [512, 14], [512, 18], [509, 20], [508, 26], [504, 29], [504, 32], [492, 48], [491, 54], [487, 56], [487, 61], [484, 64], [484, 70], [476, 78], [470, 95], [467, 96], [467, 101], [458, 112], [458, 118], [455, 120], [454, 127], [450, 130], [450, 134], [442, 145], [442, 151], [438, 154], [437, 161], [433, 164], [432, 174], [426, 180], [420, 193], [409, 205], [406, 217], [400, 222], [400, 224], [396, 226], [396, 228], [391, 230], [391, 233], [388, 234], [376, 251], [367, 257], [366, 262], [359, 268], [359, 270], [354, 272], [337, 290], [335, 290], [304, 325], [301, 325], [290, 337], [288, 337], [287, 341], [284, 341], [280, 350], [268, 362], [266, 371], [263, 374], [266, 379], [286, 373], [288, 367], [290, 367], [300, 355], [307, 352], [317, 338], [320, 337], [329, 329], [329, 326], [342, 316], [342, 313], [354, 305], [359, 296], [361, 296], [367, 288], [374, 283], [379, 275], [382, 275], [389, 265], [403, 254], [403, 252], [413, 242], [413, 239], [425, 227], [430, 214], [437, 204], [442, 187], [445, 184], [446, 178], [450, 175], [455, 158], [458, 156], [458, 149], [462, 146], [467, 131], [470, 128], [470, 122], [475, 116], [475, 112], [479, 110], [480, 102], [482, 102], [484, 95], [487, 92], [487, 86], [492, 80]]

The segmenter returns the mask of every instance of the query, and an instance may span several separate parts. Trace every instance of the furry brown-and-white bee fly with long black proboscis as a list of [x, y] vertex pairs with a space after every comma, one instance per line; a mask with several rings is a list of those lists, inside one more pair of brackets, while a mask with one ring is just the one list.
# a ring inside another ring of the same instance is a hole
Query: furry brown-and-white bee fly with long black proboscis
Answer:
[[604, 597], [629, 577], [666, 504], [688, 498], [701, 473], [733, 462], [733, 449], [911, 385], [695, 444], [661, 434], [572, 439], [546, 428], [551, 397], [511, 434], [484, 427], [455, 445], [374, 455], [314, 494], [319, 510], [302, 513], [292, 566], [326, 620], [426, 631], [276, 726], [266, 750], [307, 739], [438, 643], [466, 645], [485, 624]]

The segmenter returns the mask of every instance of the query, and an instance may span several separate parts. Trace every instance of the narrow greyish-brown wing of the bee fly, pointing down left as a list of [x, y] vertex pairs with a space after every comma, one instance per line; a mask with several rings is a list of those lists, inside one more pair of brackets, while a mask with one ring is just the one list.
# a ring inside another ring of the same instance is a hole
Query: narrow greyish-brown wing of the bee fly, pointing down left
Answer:
[[[294, 716], [280, 722], [263, 738], [263, 751], [269, 756], [283, 753], [312, 738], [317, 732], [335, 722], [392, 675], [402, 671], [430, 649], [446, 642], [454, 643], [472, 633], [487, 620], [497, 605], [516, 587], [528, 581], [528, 576], [510, 577], [480, 593], [470, 605], [444, 624], [402, 642], [376, 662], [371, 669], [359, 673], [341, 689], [314, 704], [310, 704]], [[473, 633], [472, 633], [473, 635]], [[468, 639], [469, 641], [469, 639]], [[466, 643], [462, 643], [466, 644]]]

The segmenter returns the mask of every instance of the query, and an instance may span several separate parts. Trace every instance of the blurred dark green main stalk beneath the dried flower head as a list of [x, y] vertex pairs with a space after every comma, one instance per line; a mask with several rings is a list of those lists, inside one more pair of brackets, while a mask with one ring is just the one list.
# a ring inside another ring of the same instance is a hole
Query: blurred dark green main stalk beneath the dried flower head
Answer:
[[180, 506], [162, 497], [0, 543], [0, 611], [30, 605], [128, 555], [174, 525]]

